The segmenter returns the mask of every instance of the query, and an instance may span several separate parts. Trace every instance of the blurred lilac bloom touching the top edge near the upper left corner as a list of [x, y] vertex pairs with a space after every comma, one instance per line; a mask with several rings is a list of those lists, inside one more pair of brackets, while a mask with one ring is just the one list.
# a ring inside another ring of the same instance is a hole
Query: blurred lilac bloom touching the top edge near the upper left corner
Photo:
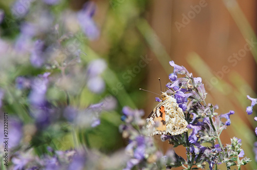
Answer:
[[12, 14], [17, 18], [22, 18], [29, 12], [31, 0], [17, 0], [12, 8]]

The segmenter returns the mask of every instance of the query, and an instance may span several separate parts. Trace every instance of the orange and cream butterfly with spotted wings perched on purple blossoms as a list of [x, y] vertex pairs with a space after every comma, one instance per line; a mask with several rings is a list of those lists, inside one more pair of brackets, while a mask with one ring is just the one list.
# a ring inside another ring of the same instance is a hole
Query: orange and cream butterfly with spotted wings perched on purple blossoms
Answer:
[[176, 99], [167, 93], [161, 92], [162, 101], [156, 105], [154, 110], [146, 119], [146, 130], [148, 136], [179, 135], [188, 131], [188, 122], [181, 108], [178, 107]]

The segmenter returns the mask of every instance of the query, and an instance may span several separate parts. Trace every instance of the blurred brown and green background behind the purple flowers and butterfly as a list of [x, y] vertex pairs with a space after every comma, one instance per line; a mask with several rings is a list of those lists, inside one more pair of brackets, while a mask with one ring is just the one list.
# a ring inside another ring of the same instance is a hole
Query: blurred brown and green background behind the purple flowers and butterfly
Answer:
[[[86, 2], [61, 1], [59, 5], [50, 7], [50, 10], [55, 14], [66, 8], [77, 12]], [[230, 138], [233, 136], [242, 139], [245, 156], [252, 160], [242, 169], [257, 168], [253, 148], [253, 143], [256, 141], [254, 129], [257, 125], [253, 118], [256, 113], [252, 115], [246, 113], [246, 107], [251, 103], [246, 96], [257, 97], [255, 94], [256, 1], [96, 0], [93, 2], [96, 4], [93, 18], [100, 35], [94, 40], [82, 42], [80, 48], [86, 55], [81, 57], [81, 61], [82, 68], [89, 65], [93, 59], [102, 58], [106, 61], [107, 69], [102, 73], [105, 88], [101, 92], [94, 92], [90, 91], [90, 88], [79, 86], [78, 89], [81, 90], [74, 92], [67, 87], [60, 87], [70, 94], [72, 106], [86, 108], [91, 103], [108, 98], [110, 102], [107, 105], [110, 108], [101, 114], [101, 124], [94, 129], [80, 132], [78, 140], [106, 154], [124, 147], [127, 141], [122, 139], [118, 129], [122, 123], [120, 119], [122, 108], [128, 105], [143, 109], [147, 117], [157, 104], [155, 101], [157, 96], [139, 91], [139, 88], [159, 94], [158, 78], [160, 78], [163, 91], [165, 84], [169, 82], [169, 74], [173, 72], [173, 68], [169, 65], [169, 61], [173, 60], [177, 65], [186, 67], [194, 77], [203, 79], [208, 93], [206, 101], [217, 104], [219, 114], [235, 111], [231, 116], [231, 125], [221, 135], [222, 142], [230, 143]], [[0, 0], [0, 8], [4, 9], [7, 16], [1, 25], [1, 36], [4, 39], [14, 40], [19, 35], [21, 20], [13, 20], [9, 10], [13, 3], [14, 1]], [[69, 13], [65, 14], [68, 18]], [[73, 23], [70, 24], [72, 27]], [[3, 63], [4, 59], [1, 61]], [[45, 71], [45, 68], [34, 69], [28, 65], [21, 65], [27, 62], [15, 63], [13, 64], [15, 69], [6, 68], [2, 72], [0, 87], [9, 89], [9, 96], [5, 95], [3, 99], [2, 110], [13, 115], [18, 112], [24, 114], [28, 112], [27, 102], [21, 100], [24, 94], [17, 94], [15, 90], [15, 79], [19, 76], [38, 75]], [[58, 75], [58, 71], [51, 72]], [[12, 76], [6, 78], [8, 74]], [[76, 74], [74, 70], [71, 75]], [[78, 80], [79, 78], [74, 80], [71, 76], [65, 82]], [[65, 93], [55, 95], [51, 92], [56, 92], [56, 89], [52, 87], [50, 90], [47, 93], [48, 99], [56, 103], [65, 102], [63, 99]], [[10, 101], [10, 96], [16, 96], [13, 98], [17, 101], [15, 105], [13, 100]], [[31, 122], [23, 122], [24, 125], [31, 125]], [[76, 144], [71, 140], [72, 134], [69, 133], [69, 128], [63, 124], [60, 126], [61, 129], [49, 126], [51, 132], [35, 134], [31, 139], [27, 139], [27, 142], [36, 145], [38, 154], [44, 153], [47, 145], [58, 150], [74, 147]], [[66, 128], [63, 128], [64, 126]], [[59, 136], [55, 136], [57, 133]], [[49, 140], [42, 141], [41, 138], [45, 136], [49, 137]], [[167, 141], [161, 142], [159, 136], [155, 139], [164, 153], [172, 147]], [[185, 158], [184, 148], [177, 147], [175, 151]]]

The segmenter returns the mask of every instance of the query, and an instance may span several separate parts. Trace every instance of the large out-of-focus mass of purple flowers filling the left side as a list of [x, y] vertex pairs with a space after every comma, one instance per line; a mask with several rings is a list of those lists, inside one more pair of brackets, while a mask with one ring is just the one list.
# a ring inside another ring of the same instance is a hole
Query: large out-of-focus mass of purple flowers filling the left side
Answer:
[[[97, 127], [107, 107], [75, 102], [83, 91], [105, 89], [106, 61], [83, 52], [100, 36], [95, 10], [87, 2], [72, 11], [61, 0], [16, 0], [9, 11], [0, 9], [0, 108], [10, 115], [8, 162], [1, 142], [1, 169], [99, 169], [98, 159], [112, 160], [82, 146], [77, 136]], [[11, 30], [16, 32], [8, 38]], [[0, 122], [2, 140], [2, 116]], [[71, 135], [73, 140], [63, 139]]]

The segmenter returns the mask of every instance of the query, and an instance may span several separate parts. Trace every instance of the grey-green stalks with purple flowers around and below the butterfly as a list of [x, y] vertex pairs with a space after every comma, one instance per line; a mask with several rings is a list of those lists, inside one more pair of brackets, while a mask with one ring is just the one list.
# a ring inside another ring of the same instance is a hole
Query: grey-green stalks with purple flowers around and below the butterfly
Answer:
[[[142, 127], [145, 122], [140, 119], [140, 116], [143, 113], [124, 108], [126, 125], [122, 125], [121, 129], [123, 137], [129, 139], [126, 149], [130, 150], [131, 154], [131, 161], [128, 162], [126, 169], [132, 169], [134, 166], [139, 169], [147, 167], [147, 162], [150, 161], [149, 159], [153, 157], [153, 154], [156, 158], [154, 163], [156, 167], [182, 166], [183, 169], [198, 169], [205, 168], [208, 163], [210, 169], [213, 169], [214, 166], [216, 169], [217, 165], [225, 163], [227, 169], [234, 165], [240, 169], [242, 165], [247, 164], [250, 159], [244, 157], [241, 139], [233, 137], [231, 144], [224, 145], [219, 138], [222, 131], [231, 124], [230, 116], [234, 114], [234, 111], [217, 114], [215, 112], [218, 109], [217, 105], [207, 104], [205, 101], [207, 93], [201, 78], [193, 77], [192, 73], [189, 73], [185, 67], [176, 65], [174, 61], [170, 61], [170, 65], [174, 67], [174, 72], [169, 75], [171, 82], [166, 85], [168, 88], [166, 92], [174, 96], [179, 107], [185, 113], [189, 123], [187, 127], [190, 130], [175, 136], [161, 135], [161, 140], [168, 140], [174, 147], [185, 146], [187, 159], [178, 156], [174, 151], [169, 151], [168, 155], [163, 156], [156, 149], [154, 152], [139, 149], [141, 143], [149, 138], [142, 135], [144, 134]], [[182, 77], [179, 78], [178, 75], [182, 75]], [[156, 100], [161, 101], [159, 98]], [[254, 101], [256, 102], [256, 100]], [[222, 121], [223, 118], [226, 119], [225, 122]], [[141, 140], [139, 141], [139, 139]], [[151, 142], [147, 144], [149, 143]], [[147, 148], [145, 145], [142, 148]], [[152, 145], [151, 148], [155, 148], [154, 144]]]

